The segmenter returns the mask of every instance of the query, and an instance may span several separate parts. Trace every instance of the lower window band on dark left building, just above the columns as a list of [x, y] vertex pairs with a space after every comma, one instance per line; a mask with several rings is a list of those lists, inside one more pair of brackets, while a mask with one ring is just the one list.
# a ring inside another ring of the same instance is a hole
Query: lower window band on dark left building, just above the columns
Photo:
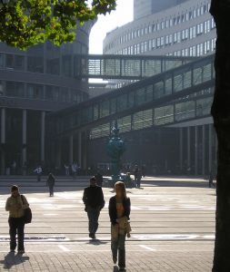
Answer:
[[54, 85], [0, 81], [0, 95], [55, 102], [83, 102], [85, 92]]

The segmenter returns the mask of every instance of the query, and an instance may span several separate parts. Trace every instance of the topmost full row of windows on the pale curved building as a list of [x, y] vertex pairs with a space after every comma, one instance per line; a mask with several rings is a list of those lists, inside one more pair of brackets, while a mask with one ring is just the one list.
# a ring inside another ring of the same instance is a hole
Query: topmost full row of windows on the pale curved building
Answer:
[[[104, 48], [104, 51], [108, 51], [114, 47], [116, 47], [118, 44], [124, 44], [125, 42], [128, 42], [130, 40], [133, 40], [135, 38], [138, 38], [140, 36], [143, 36], [145, 34], [151, 34], [155, 33], [157, 31], [161, 31], [165, 28], [169, 28], [172, 26], [175, 26], [176, 24], [183, 24], [186, 21], [191, 21], [192, 19], [195, 19], [196, 17], [199, 17], [201, 15], [204, 15], [209, 11], [210, 4], [205, 4], [200, 7], [194, 8], [193, 11], [188, 11], [183, 15], [177, 15], [175, 17], [172, 17], [170, 19], [163, 19], [162, 22], [153, 23], [149, 25], [145, 25], [143, 27], [140, 27], [135, 30], [129, 30], [127, 33], [121, 34], [119, 37], [117, 37], [113, 42], [110, 44], [107, 44]], [[214, 24], [214, 23], [212, 23]]]

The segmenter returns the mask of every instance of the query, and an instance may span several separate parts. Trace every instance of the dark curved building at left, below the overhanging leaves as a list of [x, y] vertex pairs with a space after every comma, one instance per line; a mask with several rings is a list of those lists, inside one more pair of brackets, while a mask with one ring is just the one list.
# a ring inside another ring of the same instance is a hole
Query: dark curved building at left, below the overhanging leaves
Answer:
[[47, 114], [88, 98], [87, 81], [75, 79], [75, 58], [88, 53], [93, 24], [78, 26], [75, 42], [61, 47], [46, 43], [23, 52], [0, 44], [1, 174], [43, 164]]

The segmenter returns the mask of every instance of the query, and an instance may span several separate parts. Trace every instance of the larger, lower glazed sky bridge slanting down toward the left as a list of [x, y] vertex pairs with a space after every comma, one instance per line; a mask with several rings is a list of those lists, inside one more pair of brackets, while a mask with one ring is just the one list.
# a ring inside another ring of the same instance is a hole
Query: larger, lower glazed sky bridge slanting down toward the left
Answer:
[[[121, 132], [125, 132], [209, 116], [215, 84], [214, 57], [212, 54], [193, 62], [191, 59], [190, 62], [181, 60], [173, 69], [163, 64], [167, 63], [167, 57], [165, 60], [163, 57], [153, 58], [153, 62], [161, 59], [161, 68], [157, 73], [155, 70], [155, 75], [147, 77], [145, 73], [146, 78], [141, 81], [52, 113], [50, 118], [55, 119], [55, 136], [85, 130], [91, 130], [92, 138], [107, 136], [115, 120]], [[121, 63], [124, 61], [120, 60]], [[142, 69], [139, 72], [143, 72]], [[92, 77], [90, 71], [85, 74]], [[105, 71], [103, 73], [105, 75]], [[98, 72], [96, 76], [103, 73]], [[144, 73], [140, 75], [144, 77]]]

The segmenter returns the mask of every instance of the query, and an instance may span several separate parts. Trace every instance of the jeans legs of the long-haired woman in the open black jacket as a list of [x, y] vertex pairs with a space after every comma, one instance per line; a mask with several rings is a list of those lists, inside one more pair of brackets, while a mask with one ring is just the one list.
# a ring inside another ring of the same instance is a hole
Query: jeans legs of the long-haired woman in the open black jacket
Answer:
[[112, 238], [111, 249], [113, 258], [117, 259], [118, 252], [118, 266], [125, 267], [125, 236], [118, 234], [118, 238]]

